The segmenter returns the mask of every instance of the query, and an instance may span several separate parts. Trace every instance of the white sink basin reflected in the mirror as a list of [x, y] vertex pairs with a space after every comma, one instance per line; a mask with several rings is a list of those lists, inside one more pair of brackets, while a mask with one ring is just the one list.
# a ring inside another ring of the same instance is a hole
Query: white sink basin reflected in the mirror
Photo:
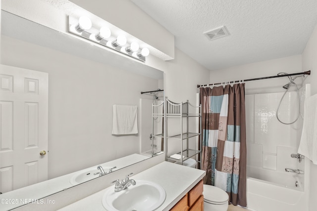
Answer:
[[[108, 172], [111, 167], [103, 167], [105, 172]], [[76, 173], [70, 178], [70, 183], [72, 185], [78, 185], [83, 182], [87, 182], [91, 179], [99, 177], [100, 170], [97, 167], [84, 169]]]

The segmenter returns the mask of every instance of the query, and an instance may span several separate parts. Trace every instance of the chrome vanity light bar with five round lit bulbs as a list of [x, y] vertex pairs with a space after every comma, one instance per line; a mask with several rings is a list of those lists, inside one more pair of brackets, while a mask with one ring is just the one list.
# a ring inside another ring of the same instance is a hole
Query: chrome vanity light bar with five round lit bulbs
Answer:
[[[91, 20], [86, 16], [81, 16], [79, 19], [68, 16], [68, 32], [145, 62], [145, 57], [150, 54], [148, 48], [144, 47], [139, 50], [139, 43], [127, 41], [127, 38], [122, 35], [122, 31], [118, 30], [120, 32], [112, 33], [106, 26], [108, 25], [105, 24], [101, 28], [95, 28]], [[111, 34], [119, 35], [115, 38]]]

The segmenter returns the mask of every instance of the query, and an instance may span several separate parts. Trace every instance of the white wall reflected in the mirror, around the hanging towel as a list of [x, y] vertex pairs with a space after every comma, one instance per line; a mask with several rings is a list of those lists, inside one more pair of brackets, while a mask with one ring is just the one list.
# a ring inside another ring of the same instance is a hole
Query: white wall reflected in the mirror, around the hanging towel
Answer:
[[[138, 105], [159, 81], [1, 36], [2, 64], [49, 73], [49, 178], [139, 153], [139, 135], [114, 136], [112, 104]], [[124, 146], [124, 147], [122, 147]]]

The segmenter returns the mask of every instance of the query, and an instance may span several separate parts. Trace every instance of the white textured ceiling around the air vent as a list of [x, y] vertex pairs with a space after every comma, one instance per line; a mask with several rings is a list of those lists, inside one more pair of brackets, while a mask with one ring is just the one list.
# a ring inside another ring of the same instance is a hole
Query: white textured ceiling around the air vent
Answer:
[[[175, 35], [175, 46], [210, 70], [301, 54], [317, 0], [132, 0]], [[203, 33], [226, 26], [230, 35]]]

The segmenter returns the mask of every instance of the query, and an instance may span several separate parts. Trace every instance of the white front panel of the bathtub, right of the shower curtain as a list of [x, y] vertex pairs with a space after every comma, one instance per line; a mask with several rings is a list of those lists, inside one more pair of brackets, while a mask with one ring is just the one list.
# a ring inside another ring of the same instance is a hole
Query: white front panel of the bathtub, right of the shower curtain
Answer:
[[307, 211], [305, 198], [306, 195], [303, 191], [260, 179], [247, 178], [247, 208], [249, 210]]

